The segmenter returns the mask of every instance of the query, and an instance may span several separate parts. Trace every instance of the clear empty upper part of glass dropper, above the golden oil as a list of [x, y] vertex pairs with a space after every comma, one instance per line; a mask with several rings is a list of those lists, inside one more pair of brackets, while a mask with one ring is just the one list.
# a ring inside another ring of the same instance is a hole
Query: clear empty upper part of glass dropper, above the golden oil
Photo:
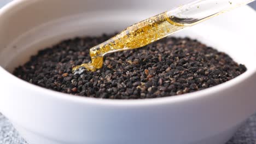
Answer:
[[191, 26], [254, 0], [196, 0], [167, 11], [173, 22]]

